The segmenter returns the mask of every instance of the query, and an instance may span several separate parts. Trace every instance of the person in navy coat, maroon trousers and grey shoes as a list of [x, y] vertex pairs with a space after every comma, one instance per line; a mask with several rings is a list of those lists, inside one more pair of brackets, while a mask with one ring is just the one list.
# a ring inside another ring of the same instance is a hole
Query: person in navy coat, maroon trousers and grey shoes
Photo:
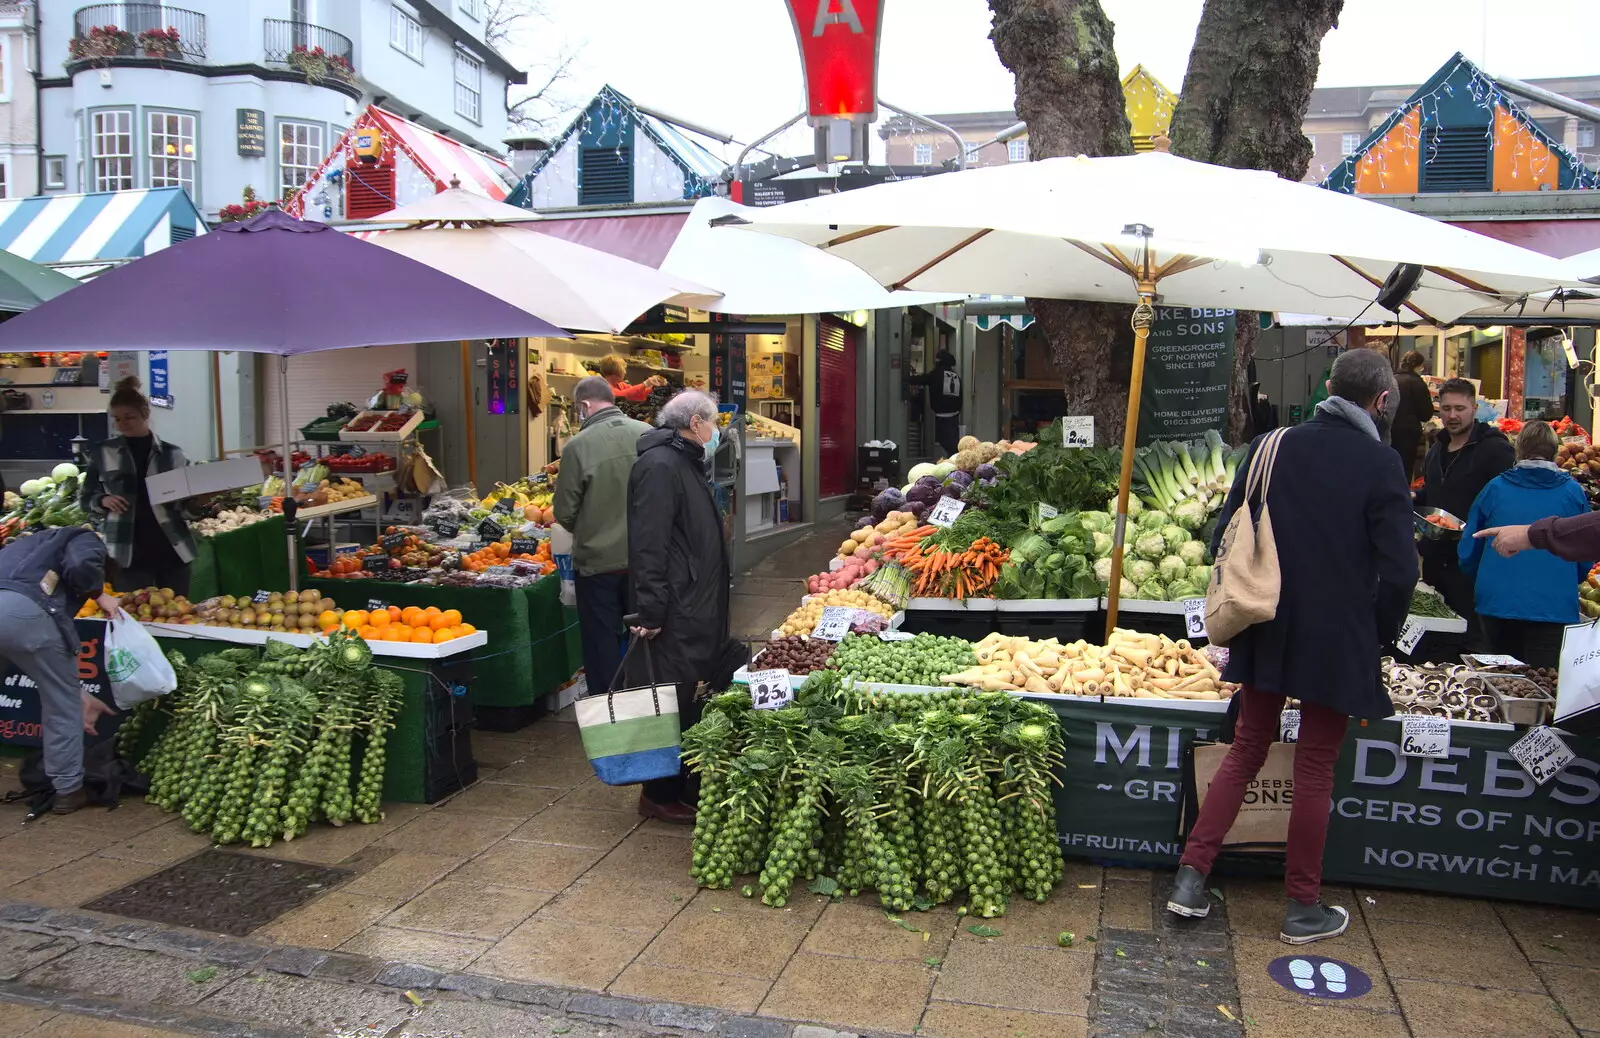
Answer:
[[[1280, 437], [1266, 491], [1282, 577], [1277, 614], [1229, 645], [1224, 678], [1243, 686], [1230, 704], [1238, 710], [1234, 745], [1189, 833], [1166, 902], [1182, 916], [1211, 910], [1206, 873], [1278, 737], [1285, 697], [1299, 699], [1280, 934], [1290, 944], [1336, 937], [1349, 926], [1344, 908], [1320, 900], [1333, 768], [1349, 718], [1394, 713], [1378, 661], [1405, 622], [1418, 569], [1405, 473], [1382, 438], [1397, 403], [1387, 358], [1376, 350], [1342, 353], [1328, 392], [1309, 422], [1267, 433]], [[1245, 472], [1262, 441], [1251, 446]], [[1245, 485], [1234, 481], [1218, 537], [1243, 504]], [[1259, 517], [1259, 502], [1251, 504]]]

